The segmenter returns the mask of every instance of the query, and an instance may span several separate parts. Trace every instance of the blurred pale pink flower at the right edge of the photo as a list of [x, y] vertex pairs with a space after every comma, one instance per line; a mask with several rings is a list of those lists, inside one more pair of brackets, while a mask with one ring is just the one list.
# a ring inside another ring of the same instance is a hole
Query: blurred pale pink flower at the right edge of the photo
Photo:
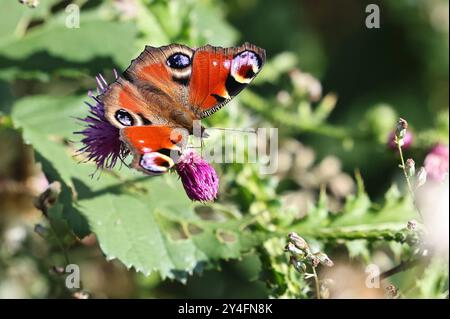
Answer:
[[438, 144], [425, 157], [424, 166], [429, 179], [441, 182], [448, 174], [448, 145]]

